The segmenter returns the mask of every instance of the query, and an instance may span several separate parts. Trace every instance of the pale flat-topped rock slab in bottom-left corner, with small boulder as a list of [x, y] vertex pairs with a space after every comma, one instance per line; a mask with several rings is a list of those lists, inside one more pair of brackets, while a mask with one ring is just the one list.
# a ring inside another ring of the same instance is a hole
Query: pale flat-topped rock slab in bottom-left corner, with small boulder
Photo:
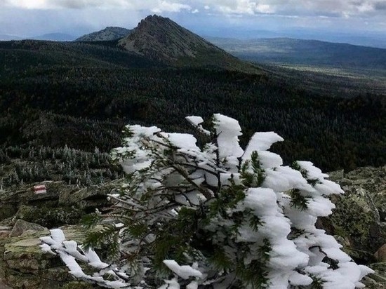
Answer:
[[[81, 226], [61, 229], [69, 240], [80, 242], [84, 239]], [[74, 282], [74, 277], [68, 273], [60, 257], [41, 250], [39, 237], [49, 234], [48, 229], [29, 230], [29, 234], [0, 240], [0, 280], [15, 289], [95, 288], [88, 283]], [[3, 289], [1, 283], [0, 288]]]

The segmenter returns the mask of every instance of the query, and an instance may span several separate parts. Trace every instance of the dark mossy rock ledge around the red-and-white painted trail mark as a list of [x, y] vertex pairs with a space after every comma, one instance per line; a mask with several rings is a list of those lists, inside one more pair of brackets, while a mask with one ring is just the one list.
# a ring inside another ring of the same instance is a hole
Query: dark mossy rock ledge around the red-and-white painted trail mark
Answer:
[[0, 222], [13, 226], [20, 219], [49, 229], [77, 224], [96, 208], [109, 207], [107, 194], [117, 187], [117, 182], [84, 188], [62, 181], [39, 183], [45, 184], [46, 194], [34, 194], [35, 184], [6, 188], [0, 191]]

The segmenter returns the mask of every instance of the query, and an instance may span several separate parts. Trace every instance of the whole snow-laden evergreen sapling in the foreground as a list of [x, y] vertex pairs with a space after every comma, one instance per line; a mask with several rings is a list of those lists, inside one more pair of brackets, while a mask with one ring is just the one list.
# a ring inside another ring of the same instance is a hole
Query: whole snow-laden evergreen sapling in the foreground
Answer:
[[[255, 133], [244, 150], [236, 120], [215, 114], [210, 128], [199, 116], [187, 120], [204, 145], [189, 134], [126, 126], [123, 146], [112, 151], [126, 172], [110, 195], [114, 213], [88, 220], [103, 229], [85, 247], [69, 250], [53, 231], [42, 238], [45, 250], [74, 276], [109, 288], [363, 287], [371, 270], [315, 227], [334, 208], [327, 196], [343, 193], [338, 184], [307, 161], [283, 166], [268, 151], [283, 141], [276, 133]], [[107, 248], [116, 265], [90, 246]], [[100, 271], [84, 274], [76, 260]]]

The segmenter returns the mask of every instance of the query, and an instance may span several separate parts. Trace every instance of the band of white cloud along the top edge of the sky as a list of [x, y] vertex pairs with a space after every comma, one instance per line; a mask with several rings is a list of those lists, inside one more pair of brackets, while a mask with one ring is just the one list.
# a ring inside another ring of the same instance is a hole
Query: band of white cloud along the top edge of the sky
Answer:
[[227, 15], [314, 15], [350, 18], [386, 16], [386, 0], [0, 0], [25, 9], [124, 8], [154, 13], [211, 10]]

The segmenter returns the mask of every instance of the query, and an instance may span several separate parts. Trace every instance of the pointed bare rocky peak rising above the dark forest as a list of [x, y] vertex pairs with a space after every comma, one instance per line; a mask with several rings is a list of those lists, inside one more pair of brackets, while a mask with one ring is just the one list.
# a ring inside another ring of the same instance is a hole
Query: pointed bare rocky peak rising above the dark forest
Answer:
[[157, 15], [147, 16], [131, 34], [119, 41], [118, 46], [169, 65], [251, 68], [169, 18]]

